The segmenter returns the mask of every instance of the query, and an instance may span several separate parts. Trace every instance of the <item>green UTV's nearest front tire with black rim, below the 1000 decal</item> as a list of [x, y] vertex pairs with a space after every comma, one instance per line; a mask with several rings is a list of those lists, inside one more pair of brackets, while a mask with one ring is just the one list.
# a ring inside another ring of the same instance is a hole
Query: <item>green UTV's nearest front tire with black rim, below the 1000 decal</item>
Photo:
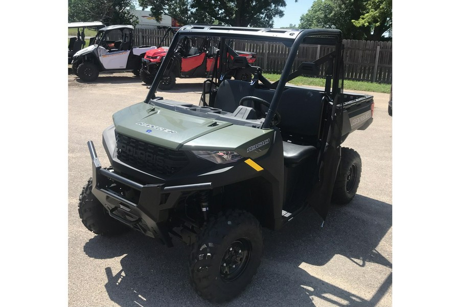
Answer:
[[262, 228], [254, 215], [231, 210], [211, 218], [192, 246], [191, 284], [211, 302], [233, 299], [256, 274], [262, 251]]

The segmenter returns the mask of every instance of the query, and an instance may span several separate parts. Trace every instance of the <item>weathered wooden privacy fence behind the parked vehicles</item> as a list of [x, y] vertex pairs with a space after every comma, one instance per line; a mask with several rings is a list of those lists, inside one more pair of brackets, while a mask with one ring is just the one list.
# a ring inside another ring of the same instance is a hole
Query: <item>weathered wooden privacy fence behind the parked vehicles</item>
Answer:
[[[161, 29], [135, 29], [136, 46], [158, 46], [166, 33]], [[162, 46], [169, 46], [173, 34], [169, 33]], [[392, 83], [392, 42], [344, 39], [344, 78], [348, 80]], [[158, 47], [162, 47], [158, 46]], [[281, 73], [289, 48], [281, 43], [235, 40], [235, 50], [257, 53], [255, 65], [265, 73]], [[331, 52], [330, 46], [305, 45], [298, 51], [294, 68], [302, 61], [313, 61]], [[323, 75], [324, 72], [321, 73]]]

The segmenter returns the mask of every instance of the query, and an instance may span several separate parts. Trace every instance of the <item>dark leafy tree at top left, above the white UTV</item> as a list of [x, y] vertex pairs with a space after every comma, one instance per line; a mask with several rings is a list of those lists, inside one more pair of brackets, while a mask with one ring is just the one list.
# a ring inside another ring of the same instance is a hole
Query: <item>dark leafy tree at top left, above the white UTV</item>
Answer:
[[68, 22], [101, 21], [106, 25], [139, 24], [130, 11], [132, 0], [68, 0]]

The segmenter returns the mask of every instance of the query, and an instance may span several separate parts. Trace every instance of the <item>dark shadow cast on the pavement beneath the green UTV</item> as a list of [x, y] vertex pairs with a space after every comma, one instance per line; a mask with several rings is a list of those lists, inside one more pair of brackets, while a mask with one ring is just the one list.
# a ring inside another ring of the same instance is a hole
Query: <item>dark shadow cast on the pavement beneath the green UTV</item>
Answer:
[[[313, 307], [315, 296], [337, 306], [374, 306], [391, 287], [392, 273], [371, 299], [365, 299], [310, 275], [300, 266], [325, 266], [335, 255], [341, 255], [357, 269], [373, 262], [391, 271], [392, 260], [382, 256], [377, 247], [392, 227], [392, 206], [356, 195], [347, 206], [332, 205], [323, 227], [321, 223], [308, 210], [281, 231], [264, 229], [264, 255], [258, 273], [239, 297], [221, 305]], [[189, 283], [189, 248], [178, 241], [174, 244], [166, 248], [131, 231], [117, 238], [95, 236], [84, 251], [97, 259], [126, 254], [120, 271], [105, 269], [107, 294], [121, 306], [213, 305], [201, 299]], [[351, 282], [360, 287], [360, 280]]]

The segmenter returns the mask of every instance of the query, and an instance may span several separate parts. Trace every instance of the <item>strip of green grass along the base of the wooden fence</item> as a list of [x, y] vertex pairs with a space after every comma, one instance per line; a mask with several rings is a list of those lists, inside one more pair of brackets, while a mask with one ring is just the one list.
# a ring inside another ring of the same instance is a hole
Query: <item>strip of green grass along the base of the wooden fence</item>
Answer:
[[[280, 79], [279, 74], [263, 74], [265, 78], [271, 82], [277, 81]], [[294, 85], [310, 85], [310, 86], [321, 86], [325, 84], [324, 78], [311, 78], [311, 77], [297, 77], [289, 83]], [[344, 80], [343, 89], [348, 91], [363, 91], [363, 92], [375, 92], [375, 93], [387, 93], [389, 94], [391, 84], [384, 83], [374, 83], [374, 82], [365, 82], [365, 81], [354, 81], [354, 80]]]

